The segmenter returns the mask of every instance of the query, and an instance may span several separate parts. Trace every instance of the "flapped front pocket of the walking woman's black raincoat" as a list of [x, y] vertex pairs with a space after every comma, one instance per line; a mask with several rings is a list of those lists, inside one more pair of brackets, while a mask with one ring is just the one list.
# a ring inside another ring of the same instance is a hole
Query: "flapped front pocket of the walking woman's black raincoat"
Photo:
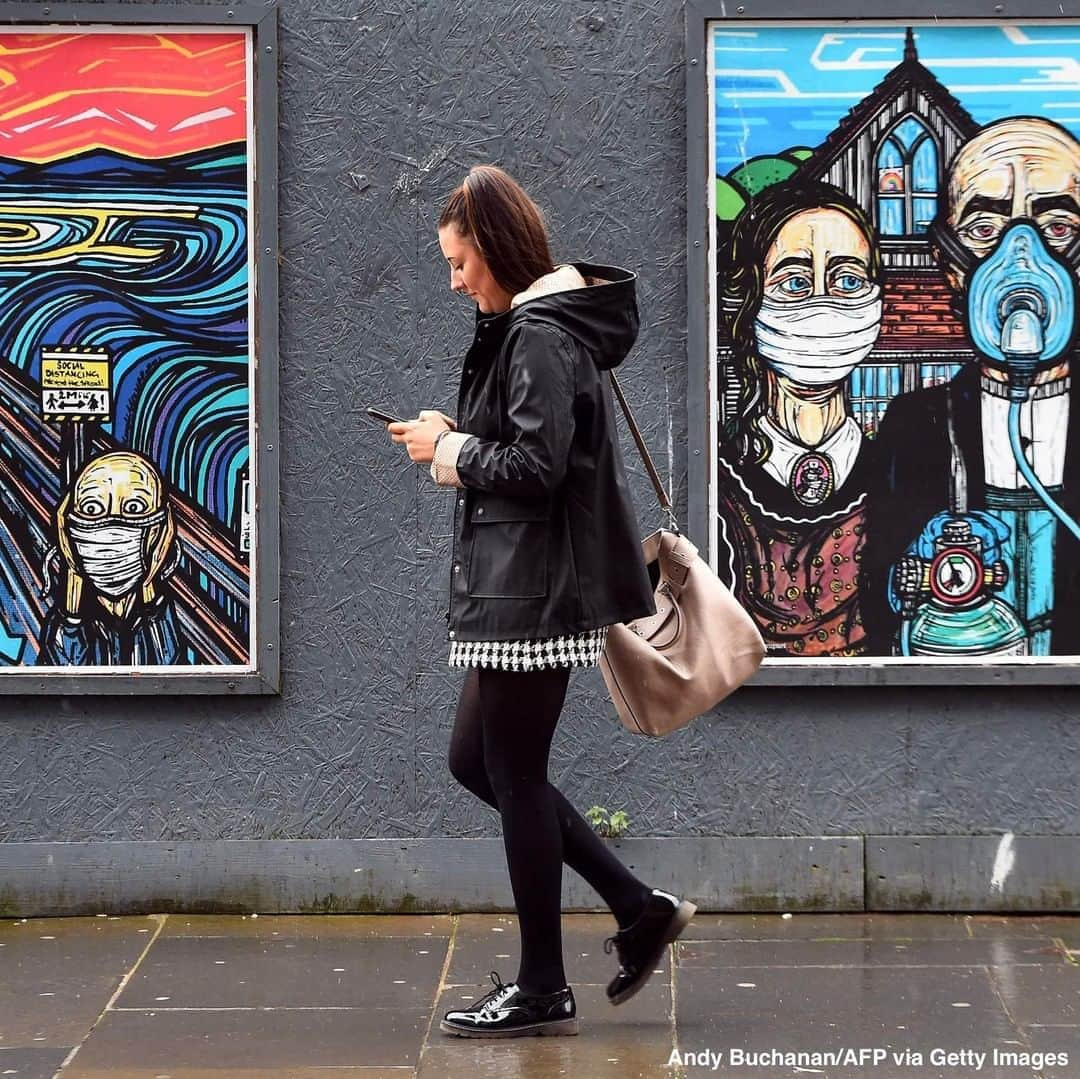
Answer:
[[478, 495], [469, 514], [469, 595], [527, 599], [548, 594], [551, 499]]

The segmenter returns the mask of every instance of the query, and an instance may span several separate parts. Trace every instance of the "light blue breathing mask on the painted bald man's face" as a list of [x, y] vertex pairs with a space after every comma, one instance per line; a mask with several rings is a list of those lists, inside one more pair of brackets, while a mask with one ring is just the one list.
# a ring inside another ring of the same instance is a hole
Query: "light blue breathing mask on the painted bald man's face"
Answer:
[[1013, 221], [971, 271], [968, 332], [975, 349], [1026, 389], [1035, 368], [1076, 337], [1077, 279], [1029, 220]]

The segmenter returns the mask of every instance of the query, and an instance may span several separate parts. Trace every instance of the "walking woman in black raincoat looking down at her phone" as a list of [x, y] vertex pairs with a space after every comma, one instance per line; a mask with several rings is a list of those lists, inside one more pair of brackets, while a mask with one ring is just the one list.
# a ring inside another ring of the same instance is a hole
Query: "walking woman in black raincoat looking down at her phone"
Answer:
[[554, 266], [539, 208], [504, 172], [470, 170], [438, 221], [450, 287], [476, 304], [458, 420], [391, 423], [435, 483], [457, 488], [449, 663], [468, 670], [449, 768], [495, 807], [521, 929], [513, 982], [441, 1029], [464, 1037], [577, 1034], [563, 967], [563, 863], [611, 908], [621, 1003], [645, 984], [692, 903], [638, 880], [548, 781], [570, 670], [595, 666], [607, 628], [656, 612], [604, 370], [637, 337], [635, 274]]

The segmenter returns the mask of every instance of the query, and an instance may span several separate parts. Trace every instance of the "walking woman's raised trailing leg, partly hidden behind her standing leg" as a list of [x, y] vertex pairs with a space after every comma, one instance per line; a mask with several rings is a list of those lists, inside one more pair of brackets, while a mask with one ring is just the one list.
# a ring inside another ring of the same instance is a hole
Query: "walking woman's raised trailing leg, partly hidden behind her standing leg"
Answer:
[[[565, 694], [565, 689], [564, 689]], [[484, 764], [484, 734], [480, 717], [480, 669], [470, 667], [458, 697], [450, 736], [449, 768], [454, 778], [492, 809], [495, 792]], [[592, 825], [552, 786], [552, 799], [563, 833], [563, 860], [607, 903], [620, 929], [642, 913], [650, 890], [638, 880], [596, 834]]]

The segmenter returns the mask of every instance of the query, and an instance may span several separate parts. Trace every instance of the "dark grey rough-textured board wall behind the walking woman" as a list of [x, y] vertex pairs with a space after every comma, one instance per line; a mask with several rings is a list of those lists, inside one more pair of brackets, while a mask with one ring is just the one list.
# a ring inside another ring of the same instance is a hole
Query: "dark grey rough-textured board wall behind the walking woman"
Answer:
[[[453, 496], [345, 414], [453, 414], [472, 313], [434, 221], [473, 163], [535, 195], [556, 259], [639, 271], [620, 375], [685, 516], [681, 4], [285, 0], [281, 30], [284, 692], [0, 698], [0, 840], [499, 835], [445, 763]], [[625, 431], [623, 453], [651, 530]], [[650, 742], [579, 671], [550, 774], [636, 836], [1072, 834], [1075, 700], [746, 688]]]

